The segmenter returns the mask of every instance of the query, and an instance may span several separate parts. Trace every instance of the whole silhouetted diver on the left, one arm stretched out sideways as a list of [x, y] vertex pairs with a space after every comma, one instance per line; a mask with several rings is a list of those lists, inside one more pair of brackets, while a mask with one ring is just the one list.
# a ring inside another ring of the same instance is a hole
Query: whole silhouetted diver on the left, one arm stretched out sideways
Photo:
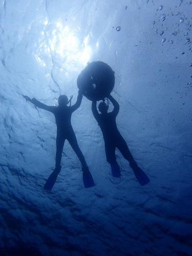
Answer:
[[[57, 175], [60, 173], [62, 149], [66, 139], [69, 141], [70, 145], [72, 146], [74, 152], [76, 153], [77, 157], [79, 158], [82, 164], [84, 187], [94, 186], [93, 178], [91, 176], [91, 173], [89, 172], [89, 168], [86, 163], [86, 160], [84, 159], [84, 156], [78, 146], [77, 139], [73, 131], [73, 127], [71, 125], [72, 113], [75, 110], [77, 110], [81, 104], [82, 94], [80, 93], [80, 91], [78, 93], [77, 101], [73, 106], [71, 106], [72, 97], [68, 101], [68, 98], [66, 95], [59, 96], [58, 106], [48, 106], [46, 104], [41, 103], [35, 98], [30, 99], [28, 96], [24, 96], [24, 97], [26, 100], [29, 100], [34, 105], [38, 106], [38, 108], [44, 109], [53, 113], [55, 116], [55, 121], [57, 125], [55, 169], [54, 169], [54, 172], [49, 176], [44, 188], [47, 190], [51, 190], [56, 181]], [[70, 106], [67, 106], [69, 102], [70, 102]]]

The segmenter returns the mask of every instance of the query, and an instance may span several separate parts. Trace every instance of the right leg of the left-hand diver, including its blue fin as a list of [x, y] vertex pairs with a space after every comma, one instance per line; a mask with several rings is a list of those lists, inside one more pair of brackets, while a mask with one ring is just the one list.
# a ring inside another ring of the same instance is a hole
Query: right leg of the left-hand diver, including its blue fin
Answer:
[[70, 145], [72, 146], [74, 152], [76, 153], [78, 159], [81, 162], [84, 187], [93, 187], [95, 185], [93, 177], [89, 171], [89, 167], [86, 163], [86, 160], [84, 159], [84, 156], [79, 148], [74, 131], [70, 131], [70, 133], [67, 136], [67, 140], [69, 141]]

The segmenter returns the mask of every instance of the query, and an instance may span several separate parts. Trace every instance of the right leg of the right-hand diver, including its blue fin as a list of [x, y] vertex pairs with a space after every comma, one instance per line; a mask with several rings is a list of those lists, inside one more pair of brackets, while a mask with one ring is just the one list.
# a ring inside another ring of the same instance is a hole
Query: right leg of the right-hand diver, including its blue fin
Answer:
[[123, 155], [123, 157], [130, 162], [130, 166], [133, 169], [135, 177], [137, 178], [138, 182], [143, 186], [150, 182], [150, 179], [146, 176], [143, 170], [137, 165], [136, 161], [134, 160], [129, 147], [126, 144], [126, 141], [120, 135], [116, 140], [116, 146]]

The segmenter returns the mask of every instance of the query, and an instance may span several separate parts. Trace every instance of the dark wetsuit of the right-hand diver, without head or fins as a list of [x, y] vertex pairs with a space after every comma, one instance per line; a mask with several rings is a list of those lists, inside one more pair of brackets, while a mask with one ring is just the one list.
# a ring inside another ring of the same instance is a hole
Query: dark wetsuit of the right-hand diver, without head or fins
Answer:
[[114, 110], [105, 114], [99, 114], [97, 111], [96, 101], [92, 102], [93, 115], [103, 134], [106, 161], [110, 164], [116, 164], [115, 148], [117, 147], [126, 160], [135, 164], [129, 147], [117, 129], [116, 116], [119, 113], [119, 104], [112, 96], [109, 96], [109, 99], [114, 105]]

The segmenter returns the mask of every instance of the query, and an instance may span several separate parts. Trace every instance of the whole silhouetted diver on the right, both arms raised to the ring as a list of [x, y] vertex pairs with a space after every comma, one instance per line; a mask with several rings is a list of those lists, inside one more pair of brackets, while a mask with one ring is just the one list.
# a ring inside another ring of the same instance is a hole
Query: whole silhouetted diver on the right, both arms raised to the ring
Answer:
[[111, 164], [112, 175], [114, 177], [120, 177], [120, 168], [115, 156], [115, 148], [117, 147], [123, 157], [130, 162], [130, 166], [139, 183], [145, 185], [150, 182], [150, 180], [135, 162], [129, 147], [117, 129], [116, 116], [119, 113], [119, 104], [111, 95], [109, 95], [108, 98], [114, 105], [114, 110], [110, 113], [108, 113], [109, 103], [108, 105], [106, 105], [104, 101], [99, 103], [98, 109], [101, 113], [99, 114], [97, 111], [97, 101], [92, 101], [92, 112], [103, 134], [106, 161]]

